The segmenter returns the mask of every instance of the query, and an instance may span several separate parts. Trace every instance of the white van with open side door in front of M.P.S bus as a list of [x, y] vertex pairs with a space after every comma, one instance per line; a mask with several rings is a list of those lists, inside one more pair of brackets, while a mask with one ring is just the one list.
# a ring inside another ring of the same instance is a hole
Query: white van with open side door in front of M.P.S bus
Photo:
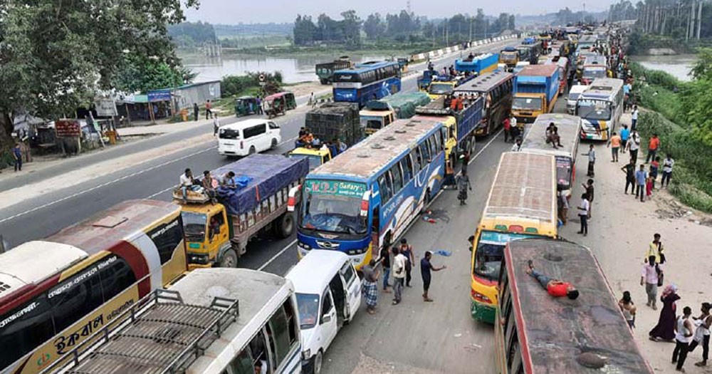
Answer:
[[321, 372], [324, 352], [361, 304], [361, 281], [349, 256], [313, 249], [285, 276], [294, 284], [301, 328], [302, 371]]

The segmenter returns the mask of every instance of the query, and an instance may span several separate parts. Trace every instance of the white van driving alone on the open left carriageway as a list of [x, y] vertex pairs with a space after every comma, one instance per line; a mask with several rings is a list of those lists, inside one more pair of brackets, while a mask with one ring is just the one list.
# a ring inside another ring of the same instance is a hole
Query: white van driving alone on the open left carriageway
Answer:
[[276, 148], [281, 141], [279, 125], [271, 120], [244, 120], [218, 130], [218, 152], [225, 156], [251, 155]]

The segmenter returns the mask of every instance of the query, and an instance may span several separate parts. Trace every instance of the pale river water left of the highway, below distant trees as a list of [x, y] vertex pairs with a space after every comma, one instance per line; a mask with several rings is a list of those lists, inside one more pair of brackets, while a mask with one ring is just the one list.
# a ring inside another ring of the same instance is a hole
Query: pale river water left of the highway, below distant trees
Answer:
[[[183, 65], [198, 73], [196, 82], [220, 80], [224, 76], [244, 76], [246, 72], [281, 71], [284, 83], [298, 83], [316, 80], [314, 66], [317, 63], [333, 61], [338, 56], [300, 56], [296, 58], [268, 56], [184, 56]], [[356, 63], [362, 61], [382, 61], [385, 56], [351, 56]]]

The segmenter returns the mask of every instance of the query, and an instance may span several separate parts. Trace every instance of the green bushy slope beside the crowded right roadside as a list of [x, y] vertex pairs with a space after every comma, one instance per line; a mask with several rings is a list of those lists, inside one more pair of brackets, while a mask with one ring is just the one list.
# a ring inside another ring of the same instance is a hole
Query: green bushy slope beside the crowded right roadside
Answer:
[[[682, 203], [712, 213], [712, 150], [707, 144], [711, 136], [705, 128], [689, 118], [689, 102], [701, 100], [693, 86], [663, 71], [651, 71], [632, 63], [636, 83], [633, 85], [635, 102], [642, 107], [638, 130], [642, 149], [646, 150], [651, 135], [661, 140], [658, 155], [661, 160], [669, 154], [675, 160], [669, 192]], [[709, 118], [712, 109], [693, 113], [695, 118]]]

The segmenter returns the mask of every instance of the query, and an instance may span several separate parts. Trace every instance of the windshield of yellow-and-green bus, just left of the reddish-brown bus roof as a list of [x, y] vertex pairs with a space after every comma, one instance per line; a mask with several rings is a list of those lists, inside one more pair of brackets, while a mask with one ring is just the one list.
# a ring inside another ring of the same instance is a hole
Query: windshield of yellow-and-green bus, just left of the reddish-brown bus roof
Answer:
[[531, 237], [535, 236], [504, 232], [482, 232], [477, 242], [475, 266], [472, 269], [472, 273], [475, 276], [481, 276], [491, 281], [497, 280], [504, 256], [504, 247], [507, 242]]

